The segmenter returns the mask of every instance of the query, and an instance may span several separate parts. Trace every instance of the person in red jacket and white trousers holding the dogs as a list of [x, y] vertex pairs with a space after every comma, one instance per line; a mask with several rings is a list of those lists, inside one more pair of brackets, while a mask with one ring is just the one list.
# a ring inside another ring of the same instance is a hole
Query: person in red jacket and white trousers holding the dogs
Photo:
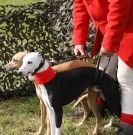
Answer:
[[118, 135], [133, 135], [133, 1], [132, 0], [74, 0], [73, 43], [74, 53], [84, 55], [89, 23], [96, 27], [96, 37], [91, 57], [102, 55], [100, 67], [104, 68], [112, 56], [108, 73], [117, 66], [117, 78], [122, 94], [122, 113]]

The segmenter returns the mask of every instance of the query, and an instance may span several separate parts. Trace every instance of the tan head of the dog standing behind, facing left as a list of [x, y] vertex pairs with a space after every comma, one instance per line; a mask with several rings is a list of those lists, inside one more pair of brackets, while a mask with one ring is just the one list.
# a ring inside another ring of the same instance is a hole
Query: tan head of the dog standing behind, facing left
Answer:
[[8, 64], [6, 64], [3, 68], [6, 69], [7, 71], [12, 70], [12, 69], [19, 69], [22, 65], [22, 60], [24, 56], [26, 56], [27, 54], [28, 54], [27, 51], [19, 52], [15, 54], [12, 57], [12, 60]]

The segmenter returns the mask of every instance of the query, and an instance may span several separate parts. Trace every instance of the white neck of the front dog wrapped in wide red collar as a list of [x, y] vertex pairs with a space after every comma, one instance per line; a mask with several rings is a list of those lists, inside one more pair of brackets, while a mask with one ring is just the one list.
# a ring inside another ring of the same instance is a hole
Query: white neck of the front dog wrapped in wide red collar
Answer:
[[49, 63], [45, 61], [45, 64], [34, 75], [37, 84], [45, 84], [51, 81], [56, 76], [56, 72], [49, 66]]

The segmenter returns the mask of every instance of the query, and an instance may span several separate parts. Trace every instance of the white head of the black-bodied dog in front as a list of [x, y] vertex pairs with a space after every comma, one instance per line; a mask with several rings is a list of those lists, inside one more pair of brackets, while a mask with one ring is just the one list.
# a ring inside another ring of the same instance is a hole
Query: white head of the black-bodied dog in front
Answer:
[[38, 52], [31, 52], [23, 58], [23, 63], [18, 70], [18, 74], [24, 76], [28, 76], [29, 74], [33, 75], [36, 70], [43, 66], [42, 64], [44, 64], [42, 55]]

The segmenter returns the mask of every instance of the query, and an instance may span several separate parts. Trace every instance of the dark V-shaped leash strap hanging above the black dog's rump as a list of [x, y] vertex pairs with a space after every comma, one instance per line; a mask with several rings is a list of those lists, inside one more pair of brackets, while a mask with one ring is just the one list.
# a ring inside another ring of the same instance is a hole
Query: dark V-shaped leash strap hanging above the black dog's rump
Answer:
[[105, 66], [105, 68], [102, 71], [101, 75], [99, 75], [98, 70], [99, 70], [99, 65], [100, 65], [100, 61], [101, 61], [101, 55], [99, 56], [97, 66], [96, 66], [96, 72], [95, 72], [95, 77], [97, 78], [97, 80], [100, 79], [103, 76], [103, 74], [106, 72], [106, 70], [107, 70], [107, 68], [109, 66], [110, 60], [111, 60], [111, 56], [108, 57], [107, 65]]

